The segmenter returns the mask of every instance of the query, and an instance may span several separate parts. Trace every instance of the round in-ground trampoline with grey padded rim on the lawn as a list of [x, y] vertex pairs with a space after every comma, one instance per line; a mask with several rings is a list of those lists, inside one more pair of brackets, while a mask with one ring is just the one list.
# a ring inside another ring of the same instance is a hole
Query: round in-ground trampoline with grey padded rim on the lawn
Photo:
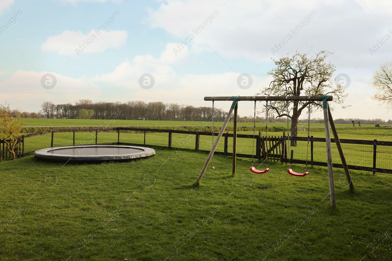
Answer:
[[78, 164], [129, 162], [154, 155], [155, 150], [151, 148], [114, 145], [64, 146], [34, 151], [37, 160]]

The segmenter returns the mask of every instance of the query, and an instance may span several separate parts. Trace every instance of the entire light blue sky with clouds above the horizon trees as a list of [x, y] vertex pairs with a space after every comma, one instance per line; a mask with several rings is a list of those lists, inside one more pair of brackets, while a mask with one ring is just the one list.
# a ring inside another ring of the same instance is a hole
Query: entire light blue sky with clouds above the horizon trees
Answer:
[[334, 118], [392, 119], [370, 86], [391, 62], [391, 14], [382, 0], [1, 0], [0, 103], [211, 106], [204, 96], [260, 93], [273, 59], [326, 50], [350, 105], [332, 102]]

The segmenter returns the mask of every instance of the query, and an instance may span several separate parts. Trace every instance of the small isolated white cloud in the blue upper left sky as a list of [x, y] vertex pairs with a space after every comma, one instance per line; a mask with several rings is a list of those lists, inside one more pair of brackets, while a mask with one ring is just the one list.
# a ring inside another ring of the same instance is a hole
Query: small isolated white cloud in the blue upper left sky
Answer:
[[[57, 52], [58, 55], [78, 56], [82, 53], [103, 52], [106, 49], [122, 47], [127, 41], [126, 31], [96, 31], [87, 34], [78, 31], [63, 31], [50, 36], [41, 45], [44, 52]], [[110, 45], [109, 45], [110, 44]]]

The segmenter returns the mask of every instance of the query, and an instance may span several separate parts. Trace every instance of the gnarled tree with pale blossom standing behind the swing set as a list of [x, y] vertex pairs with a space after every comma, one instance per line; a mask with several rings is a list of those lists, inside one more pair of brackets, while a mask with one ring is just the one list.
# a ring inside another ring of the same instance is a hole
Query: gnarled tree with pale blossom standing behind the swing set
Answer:
[[[334, 85], [332, 74], [335, 71], [332, 63], [327, 63], [329, 52], [321, 51], [316, 57], [308, 58], [307, 54], [296, 54], [274, 60], [276, 68], [268, 74], [273, 80], [262, 90], [263, 95], [269, 96], [318, 96], [333, 95], [334, 101], [343, 104], [347, 94], [341, 85]], [[322, 101], [270, 101], [269, 112], [276, 112], [279, 117], [289, 117], [291, 120], [291, 136], [298, 135], [298, 119], [307, 106], [311, 104], [311, 112], [322, 109]], [[289, 106], [289, 114], [287, 114]], [[345, 106], [342, 105], [344, 108]], [[307, 112], [307, 111], [306, 111]], [[297, 146], [296, 140], [291, 140], [290, 146]]]

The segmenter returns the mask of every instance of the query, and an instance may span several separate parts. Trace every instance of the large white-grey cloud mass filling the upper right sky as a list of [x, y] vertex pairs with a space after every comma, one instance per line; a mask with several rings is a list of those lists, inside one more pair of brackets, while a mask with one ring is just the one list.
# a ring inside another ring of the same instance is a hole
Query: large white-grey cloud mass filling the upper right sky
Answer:
[[[392, 2], [386, 0], [362, 1], [363, 4], [355, 0], [265, 1], [265, 4], [258, 0], [249, 0], [247, 4], [241, 0], [166, 2], [170, 6], [162, 1], [158, 9], [149, 11], [146, 22], [152, 28], [163, 28], [180, 39], [193, 34], [192, 30], [214, 10], [219, 12], [211, 24], [195, 35], [189, 45], [191, 52], [212, 52], [208, 43], [225, 57], [244, 57], [262, 63], [296, 50], [309, 52], [308, 45], [313, 46], [315, 52], [334, 52], [331, 59], [337, 66], [354, 68], [364, 59], [367, 61], [362, 66], [378, 67], [392, 55], [392, 40], [374, 56], [369, 52], [369, 48], [392, 29], [387, 27], [391, 22]], [[317, 14], [310, 23], [298, 34], [292, 34], [290, 30], [303, 22], [312, 10]], [[276, 49], [275, 45], [288, 34], [292, 34], [293, 39], [273, 56], [271, 49]]]

